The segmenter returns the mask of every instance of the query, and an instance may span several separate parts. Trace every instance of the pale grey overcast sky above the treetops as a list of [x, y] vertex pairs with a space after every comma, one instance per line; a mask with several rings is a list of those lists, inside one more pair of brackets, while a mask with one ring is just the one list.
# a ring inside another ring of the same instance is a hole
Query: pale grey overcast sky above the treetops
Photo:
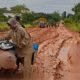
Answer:
[[12, 7], [25, 4], [31, 11], [51, 13], [54, 11], [67, 11], [71, 13], [72, 7], [80, 0], [0, 0], [0, 7]]

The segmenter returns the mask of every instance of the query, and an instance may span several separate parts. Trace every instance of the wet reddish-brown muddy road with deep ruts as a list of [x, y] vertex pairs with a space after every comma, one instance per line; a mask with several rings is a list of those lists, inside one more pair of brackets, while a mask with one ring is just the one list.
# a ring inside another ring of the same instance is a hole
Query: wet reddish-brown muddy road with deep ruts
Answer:
[[[79, 33], [71, 32], [65, 27], [33, 28], [28, 29], [28, 32], [33, 42], [39, 43], [36, 62], [32, 66], [32, 80], [80, 80]], [[5, 34], [6, 32], [0, 33], [0, 36]], [[0, 80], [23, 80], [23, 78], [22, 73], [7, 77], [3, 74]]]

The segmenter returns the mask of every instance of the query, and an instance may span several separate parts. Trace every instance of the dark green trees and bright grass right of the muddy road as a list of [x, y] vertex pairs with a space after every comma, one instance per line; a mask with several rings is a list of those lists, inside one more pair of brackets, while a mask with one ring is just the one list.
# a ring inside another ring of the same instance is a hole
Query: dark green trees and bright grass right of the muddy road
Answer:
[[76, 4], [74, 8], [74, 15], [68, 14], [66, 18], [64, 18], [65, 25], [69, 27], [71, 30], [80, 32], [80, 3]]

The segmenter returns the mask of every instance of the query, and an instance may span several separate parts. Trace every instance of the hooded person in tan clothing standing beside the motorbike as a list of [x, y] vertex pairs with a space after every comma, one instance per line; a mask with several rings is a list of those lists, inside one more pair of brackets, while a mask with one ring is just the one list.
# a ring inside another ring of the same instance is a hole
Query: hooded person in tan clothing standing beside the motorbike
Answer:
[[24, 59], [24, 80], [30, 80], [31, 58], [34, 52], [31, 37], [14, 18], [8, 21], [8, 25], [11, 30], [5, 39], [12, 39], [13, 43], [16, 45], [17, 57]]

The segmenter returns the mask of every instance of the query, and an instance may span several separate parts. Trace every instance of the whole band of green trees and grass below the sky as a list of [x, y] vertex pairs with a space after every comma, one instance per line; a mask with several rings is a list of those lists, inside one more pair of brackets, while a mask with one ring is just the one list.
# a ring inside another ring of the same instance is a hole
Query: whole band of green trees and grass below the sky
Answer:
[[10, 16], [5, 16], [4, 13], [19, 14], [21, 16], [21, 23], [25, 25], [25, 28], [38, 27], [40, 21], [44, 21], [49, 25], [56, 25], [60, 20], [64, 20], [66, 27], [71, 30], [80, 32], [80, 3], [76, 4], [72, 11], [74, 14], [66, 13], [62, 14], [58, 12], [53, 13], [35, 13], [26, 8], [25, 5], [16, 5], [8, 10], [7, 8], [0, 8], [0, 30], [8, 30], [9, 27], [6, 25]]

